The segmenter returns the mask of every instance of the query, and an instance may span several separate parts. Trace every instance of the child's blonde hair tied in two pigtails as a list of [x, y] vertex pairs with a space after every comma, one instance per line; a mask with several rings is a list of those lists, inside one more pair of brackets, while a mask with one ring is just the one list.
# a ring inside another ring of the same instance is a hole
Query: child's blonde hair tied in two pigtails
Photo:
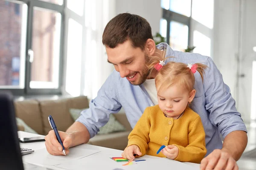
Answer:
[[[170, 57], [166, 57], [163, 60], [166, 61]], [[148, 62], [149, 70], [153, 70], [154, 65], [159, 63], [158, 57], [151, 57]], [[202, 81], [204, 80], [203, 74], [207, 65], [201, 63], [195, 63], [197, 65], [196, 71], [201, 75]], [[195, 76], [188, 65], [182, 62], [168, 62], [157, 72], [155, 77], [155, 84], [157, 87], [157, 93], [159, 91], [169, 88], [172, 85], [180, 85], [186, 91], [190, 92], [194, 89]]]

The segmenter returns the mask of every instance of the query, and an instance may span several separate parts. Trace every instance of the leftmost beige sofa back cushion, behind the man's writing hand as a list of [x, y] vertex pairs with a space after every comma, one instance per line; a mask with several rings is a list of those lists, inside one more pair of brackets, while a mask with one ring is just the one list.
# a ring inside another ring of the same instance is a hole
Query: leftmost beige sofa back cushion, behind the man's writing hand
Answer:
[[22, 119], [38, 134], [44, 134], [39, 103], [36, 100], [15, 102], [16, 116]]

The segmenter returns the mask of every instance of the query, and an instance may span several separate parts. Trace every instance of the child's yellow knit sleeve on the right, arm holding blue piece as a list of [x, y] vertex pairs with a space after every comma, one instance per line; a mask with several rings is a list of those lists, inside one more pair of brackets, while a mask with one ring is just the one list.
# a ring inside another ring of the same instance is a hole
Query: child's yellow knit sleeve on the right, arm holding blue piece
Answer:
[[174, 144], [179, 148], [179, 154], [175, 160], [200, 163], [207, 153], [204, 126], [200, 116], [189, 126], [188, 143], [186, 147]]

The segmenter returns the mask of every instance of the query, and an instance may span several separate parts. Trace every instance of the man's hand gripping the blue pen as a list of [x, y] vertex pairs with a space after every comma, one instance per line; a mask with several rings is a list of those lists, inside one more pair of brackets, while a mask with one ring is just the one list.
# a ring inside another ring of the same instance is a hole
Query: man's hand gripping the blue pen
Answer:
[[[60, 137], [61, 137], [61, 141], [63, 143], [63, 146], [65, 147], [66, 150], [66, 154], [69, 153], [69, 147], [72, 143], [72, 136], [71, 134], [62, 132], [62, 131], [58, 131]], [[63, 155], [62, 153], [62, 146], [61, 144], [58, 142], [58, 139], [54, 133], [54, 130], [49, 131], [48, 135], [45, 136], [45, 146], [47, 151], [52, 154], [52, 155]]]

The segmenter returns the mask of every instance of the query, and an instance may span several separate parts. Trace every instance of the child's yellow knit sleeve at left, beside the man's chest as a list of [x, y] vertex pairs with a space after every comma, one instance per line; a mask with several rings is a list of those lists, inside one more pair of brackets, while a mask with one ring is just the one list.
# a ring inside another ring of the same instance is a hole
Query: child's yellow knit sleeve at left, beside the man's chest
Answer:
[[150, 115], [149, 115], [149, 108], [146, 108], [140, 119], [138, 120], [137, 124], [135, 125], [134, 129], [128, 136], [128, 146], [136, 144], [140, 147], [140, 152], [142, 153], [140, 156], [146, 154], [148, 150], [148, 142], [149, 139], [149, 130], [150, 130]]

